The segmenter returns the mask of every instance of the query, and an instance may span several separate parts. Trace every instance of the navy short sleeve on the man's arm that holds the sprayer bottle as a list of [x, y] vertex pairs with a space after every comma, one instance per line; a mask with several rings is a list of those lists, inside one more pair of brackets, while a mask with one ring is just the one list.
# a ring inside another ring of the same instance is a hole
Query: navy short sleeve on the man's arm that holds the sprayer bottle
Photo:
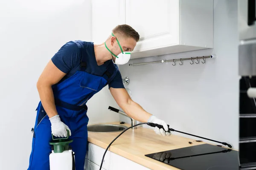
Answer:
[[52, 57], [52, 62], [62, 72], [69, 73], [80, 62], [76, 42], [70, 41], [64, 44]]

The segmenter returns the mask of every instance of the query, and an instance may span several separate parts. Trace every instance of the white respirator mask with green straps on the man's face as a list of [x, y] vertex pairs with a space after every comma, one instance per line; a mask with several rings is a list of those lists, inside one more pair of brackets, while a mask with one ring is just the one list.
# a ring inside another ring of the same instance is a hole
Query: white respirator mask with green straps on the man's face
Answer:
[[[112, 33], [112, 35], [114, 36], [114, 34]], [[114, 36], [115, 37], [115, 36]], [[116, 38], [116, 41], [117, 41], [117, 43], [118, 43], [118, 45], [119, 45], [119, 47], [120, 47], [120, 49], [121, 49], [121, 51], [122, 51], [122, 47], [121, 47], [121, 45], [119, 44], [119, 41], [117, 40], [117, 38]], [[105, 42], [105, 47], [108, 49], [108, 47], [107, 47], [107, 45], [106, 45], [106, 42]], [[113, 55], [113, 56], [115, 56], [116, 57], [116, 60], [115, 60], [115, 64], [118, 64], [118, 65], [123, 65], [123, 64], [126, 64], [129, 60], [130, 60], [130, 58], [131, 58], [131, 52], [130, 51], [122, 51], [120, 54], [118, 54], [117, 56], [115, 55], [115, 54], [113, 54], [112, 53], [112, 51], [110, 51], [109, 49], [108, 49], [108, 51]]]

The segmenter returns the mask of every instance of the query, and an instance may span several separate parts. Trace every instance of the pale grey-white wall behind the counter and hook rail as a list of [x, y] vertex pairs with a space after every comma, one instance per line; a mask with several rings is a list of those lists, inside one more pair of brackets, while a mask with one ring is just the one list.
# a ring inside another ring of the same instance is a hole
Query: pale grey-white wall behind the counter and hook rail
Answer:
[[[189, 60], [184, 61], [182, 66], [180, 62], [176, 66], [172, 66], [172, 62], [122, 65], [122, 77], [128, 76], [131, 81], [126, 88], [131, 90], [132, 99], [176, 130], [228, 142], [238, 149], [237, 30], [237, 1], [214, 0], [213, 50], [134, 59], [129, 63], [210, 54], [216, 54], [218, 58], [207, 59], [206, 64], [198, 65], [190, 65]], [[130, 122], [123, 116], [121, 120]], [[186, 136], [176, 132], [173, 134]]]

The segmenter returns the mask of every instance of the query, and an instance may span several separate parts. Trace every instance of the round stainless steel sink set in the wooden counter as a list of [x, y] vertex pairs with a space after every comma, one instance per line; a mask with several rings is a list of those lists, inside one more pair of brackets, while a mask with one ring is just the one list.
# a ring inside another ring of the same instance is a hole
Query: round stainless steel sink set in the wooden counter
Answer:
[[106, 132], [120, 132], [128, 128], [124, 125], [112, 125], [112, 124], [98, 124], [98, 125], [88, 125], [88, 132], [95, 133], [106, 133]]

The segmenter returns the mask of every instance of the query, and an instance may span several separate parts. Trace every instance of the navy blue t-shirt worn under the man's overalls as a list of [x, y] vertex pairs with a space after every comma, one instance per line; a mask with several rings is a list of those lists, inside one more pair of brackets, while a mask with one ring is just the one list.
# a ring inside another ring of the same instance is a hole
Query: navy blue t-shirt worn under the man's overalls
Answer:
[[[113, 62], [112, 59], [106, 61], [103, 65], [97, 65], [93, 42], [84, 42], [84, 46], [86, 48], [87, 54], [89, 54], [87, 56], [90, 57], [88, 59], [89, 62], [87, 62], [87, 65], [91, 68], [91, 74], [102, 76], [107, 70], [108, 65]], [[52, 57], [52, 62], [58, 69], [66, 73], [60, 82], [73, 76], [76, 71], [79, 71], [81, 62], [80, 50], [76, 45], [76, 42], [70, 41], [64, 44]], [[111, 87], [125, 88], [122, 83], [122, 76], [119, 71], [117, 72], [116, 77], [114, 77], [114, 79], [108, 84], [108, 88]]]

